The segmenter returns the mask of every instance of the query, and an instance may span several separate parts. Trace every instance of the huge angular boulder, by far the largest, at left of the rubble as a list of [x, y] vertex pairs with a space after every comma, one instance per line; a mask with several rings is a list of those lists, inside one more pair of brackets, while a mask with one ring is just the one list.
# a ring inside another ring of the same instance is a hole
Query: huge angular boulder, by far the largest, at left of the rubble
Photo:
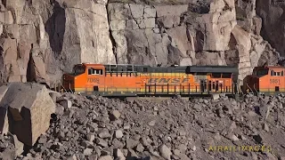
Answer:
[[11, 83], [3, 87], [8, 89], [0, 106], [9, 108], [12, 115], [11, 132], [24, 144], [33, 146], [47, 131], [51, 114], [55, 112], [48, 90], [42, 84]]

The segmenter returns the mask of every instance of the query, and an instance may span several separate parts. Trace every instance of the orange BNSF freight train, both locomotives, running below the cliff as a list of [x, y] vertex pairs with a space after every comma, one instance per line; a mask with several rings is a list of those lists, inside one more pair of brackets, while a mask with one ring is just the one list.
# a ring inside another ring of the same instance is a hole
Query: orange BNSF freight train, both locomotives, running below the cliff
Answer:
[[79, 94], [114, 96], [211, 95], [240, 92], [284, 92], [284, 68], [256, 67], [240, 90], [238, 68], [228, 66], [171, 66], [77, 64], [63, 75], [63, 88]]

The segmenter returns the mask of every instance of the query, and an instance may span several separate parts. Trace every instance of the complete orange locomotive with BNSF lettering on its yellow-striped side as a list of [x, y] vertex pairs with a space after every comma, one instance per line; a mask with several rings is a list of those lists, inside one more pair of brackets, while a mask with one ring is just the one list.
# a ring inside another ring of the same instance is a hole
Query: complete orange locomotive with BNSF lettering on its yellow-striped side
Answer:
[[78, 64], [63, 75], [65, 90], [102, 96], [234, 94], [227, 66], [150, 67], [144, 65]]

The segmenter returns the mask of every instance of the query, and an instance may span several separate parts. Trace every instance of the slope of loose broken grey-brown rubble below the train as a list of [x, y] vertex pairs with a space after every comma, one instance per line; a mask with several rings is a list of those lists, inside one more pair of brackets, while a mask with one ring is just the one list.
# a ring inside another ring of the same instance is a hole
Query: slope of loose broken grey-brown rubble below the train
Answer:
[[64, 94], [48, 131], [18, 158], [284, 159], [284, 99], [157, 103]]

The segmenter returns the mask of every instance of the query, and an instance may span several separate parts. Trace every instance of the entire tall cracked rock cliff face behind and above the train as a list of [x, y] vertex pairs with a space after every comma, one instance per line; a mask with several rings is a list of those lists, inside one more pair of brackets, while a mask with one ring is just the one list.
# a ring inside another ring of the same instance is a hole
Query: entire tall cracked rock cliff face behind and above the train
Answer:
[[276, 12], [267, 5], [255, 0], [4, 0], [0, 80], [53, 86], [81, 62], [233, 65], [240, 68], [241, 80], [257, 65], [278, 60], [263, 36], [284, 51], [284, 36], [272, 26], [281, 25], [274, 16], [281, 21], [282, 5]]

